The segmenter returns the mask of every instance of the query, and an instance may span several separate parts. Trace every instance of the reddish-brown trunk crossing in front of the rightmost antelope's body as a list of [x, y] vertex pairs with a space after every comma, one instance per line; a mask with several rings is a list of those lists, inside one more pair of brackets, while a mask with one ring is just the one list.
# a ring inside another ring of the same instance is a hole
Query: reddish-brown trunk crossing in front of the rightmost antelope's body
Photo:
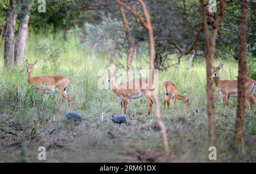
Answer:
[[249, 0], [241, 0], [241, 19], [238, 57], [238, 105], [235, 125], [235, 139], [241, 141], [243, 135], [243, 118], [245, 115], [245, 77], [246, 77], [246, 26]]

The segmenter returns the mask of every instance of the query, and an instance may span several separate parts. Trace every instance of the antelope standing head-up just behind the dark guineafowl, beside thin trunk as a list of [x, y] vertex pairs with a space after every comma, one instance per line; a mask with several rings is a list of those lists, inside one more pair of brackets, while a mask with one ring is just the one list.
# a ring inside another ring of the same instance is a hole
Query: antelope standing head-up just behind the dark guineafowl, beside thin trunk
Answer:
[[115, 75], [117, 70], [115, 70], [114, 73], [110, 73], [108, 70], [106, 70], [106, 73], [109, 75], [109, 83], [111, 83], [114, 93], [118, 96], [119, 101], [121, 101], [121, 109], [122, 105], [125, 109], [125, 114], [127, 114], [128, 101], [130, 99], [139, 99], [142, 96], [145, 96], [148, 100], [148, 114], [152, 113], [154, 101], [151, 99], [151, 93], [154, 91], [154, 81], [152, 81], [152, 89], [148, 85], [148, 83], [150, 83], [148, 78], [139, 78], [130, 82], [117, 84], [115, 83]]

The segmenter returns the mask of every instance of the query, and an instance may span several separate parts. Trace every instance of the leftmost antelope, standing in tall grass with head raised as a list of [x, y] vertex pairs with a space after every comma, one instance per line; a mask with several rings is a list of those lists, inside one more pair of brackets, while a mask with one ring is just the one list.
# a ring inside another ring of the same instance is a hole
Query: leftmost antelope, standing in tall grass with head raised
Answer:
[[48, 76], [40, 76], [40, 77], [32, 77], [33, 67], [38, 63], [35, 61], [34, 63], [27, 64], [27, 82], [30, 84], [35, 84], [38, 87], [39, 91], [42, 91], [43, 94], [51, 94], [53, 92], [59, 91], [61, 96], [61, 103], [63, 104], [65, 101], [65, 96], [68, 99], [68, 105], [71, 107], [71, 97], [68, 95], [67, 87], [69, 84], [69, 79], [64, 75], [48, 75]]

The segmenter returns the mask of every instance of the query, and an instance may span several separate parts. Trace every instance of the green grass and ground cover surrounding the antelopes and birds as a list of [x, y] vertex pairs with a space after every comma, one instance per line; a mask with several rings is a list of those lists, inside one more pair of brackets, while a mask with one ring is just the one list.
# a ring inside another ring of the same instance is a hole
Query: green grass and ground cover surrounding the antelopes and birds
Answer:
[[[41, 44], [40, 44], [41, 43]], [[109, 118], [120, 113], [120, 104], [111, 90], [100, 90], [97, 73], [115, 65], [122, 69], [123, 58], [109, 60], [108, 53], [90, 50], [81, 45], [77, 37], [30, 35], [26, 59], [38, 60], [34, 76], [64, 74], [70, 80], [68, 88], [72, 107], [67, 100], [60, 104], [58, 94], [40, 95], [34, 86], [27, 83], [26, 66], [20, 69], [3, 68], [0, 63], [0, 113], [9, 114], [7, 122], [0, 118], [0, 162], [38, 162], [37, 148], [47, 147], [46, 162], [159, 162], [163, 153], [159, 131], [155, 129], [154, 114], [146, 116], [146, 99], [131, 100], [128, 106], [129, 125], [114, 125]], [[3, 48], [0, 48], [3, 60]], [[147, 54], [141, 53], [134, 60], [134, 69], [147, 69]], [[170, 57], [175, 58], [175, 57]], [[184, 58], [185, 59], [185, 58]], [[173, 62], [175, 63], [175, 61]], [[217, 57], [214, 65], [224, 63], [221, 79], [236, 79], [237, 63]], [[168, 132], [171, 149], [170, 162], [209, 162], [208, 117], [206, 112], [205, 62], [197, 60], [192, 69], [187, 61], [170, 66], [159, 74], [159, 97], [162, 119]], [[118, 74], [117, 74], [118, 75]], [[108, 79], [106, 79], [108, 80]], [[172, 80], [179, 92], [187, 91], [191, 105], [178, 101], [170, 111], [163, 112], [162, 84]], [[218, 162], [255, 162], [256, 124], [255, 114], [246, 109], [244, 143], [234, 148], [233, 130], [236, 120], [236, 99], [230, 108], [224, 108], [222, 99], [216, 97], [216, 146]], [[80, 124], [65, 121], [68, 110], [92, 116]], [[101, 113], [106, 111], [107, 122], [101, 122]], [[56, 129], [52, 135], [49, 133]]]

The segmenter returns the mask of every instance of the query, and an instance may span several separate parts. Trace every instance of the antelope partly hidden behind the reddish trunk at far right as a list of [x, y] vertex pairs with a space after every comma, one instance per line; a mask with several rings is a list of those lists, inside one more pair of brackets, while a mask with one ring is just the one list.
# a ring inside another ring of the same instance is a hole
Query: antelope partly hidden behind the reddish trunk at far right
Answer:
[[[223, 97], [224, 107], [229, 107], [230, 97], [238, 96], [238, 81], [237, 80], [220, 80], [219, 71], [222, 69], [223, 64], [218, 67], [212, 67], [213, 69], [213, 80], [215, 86], [218, 88], [220, 95]], [[245, 77], [245, 96], [246, 100], [250, 104], [250, 109], [253, 109], [255, 100], [253, 99], [254, 90], [256, 87], [256, 81]]]

